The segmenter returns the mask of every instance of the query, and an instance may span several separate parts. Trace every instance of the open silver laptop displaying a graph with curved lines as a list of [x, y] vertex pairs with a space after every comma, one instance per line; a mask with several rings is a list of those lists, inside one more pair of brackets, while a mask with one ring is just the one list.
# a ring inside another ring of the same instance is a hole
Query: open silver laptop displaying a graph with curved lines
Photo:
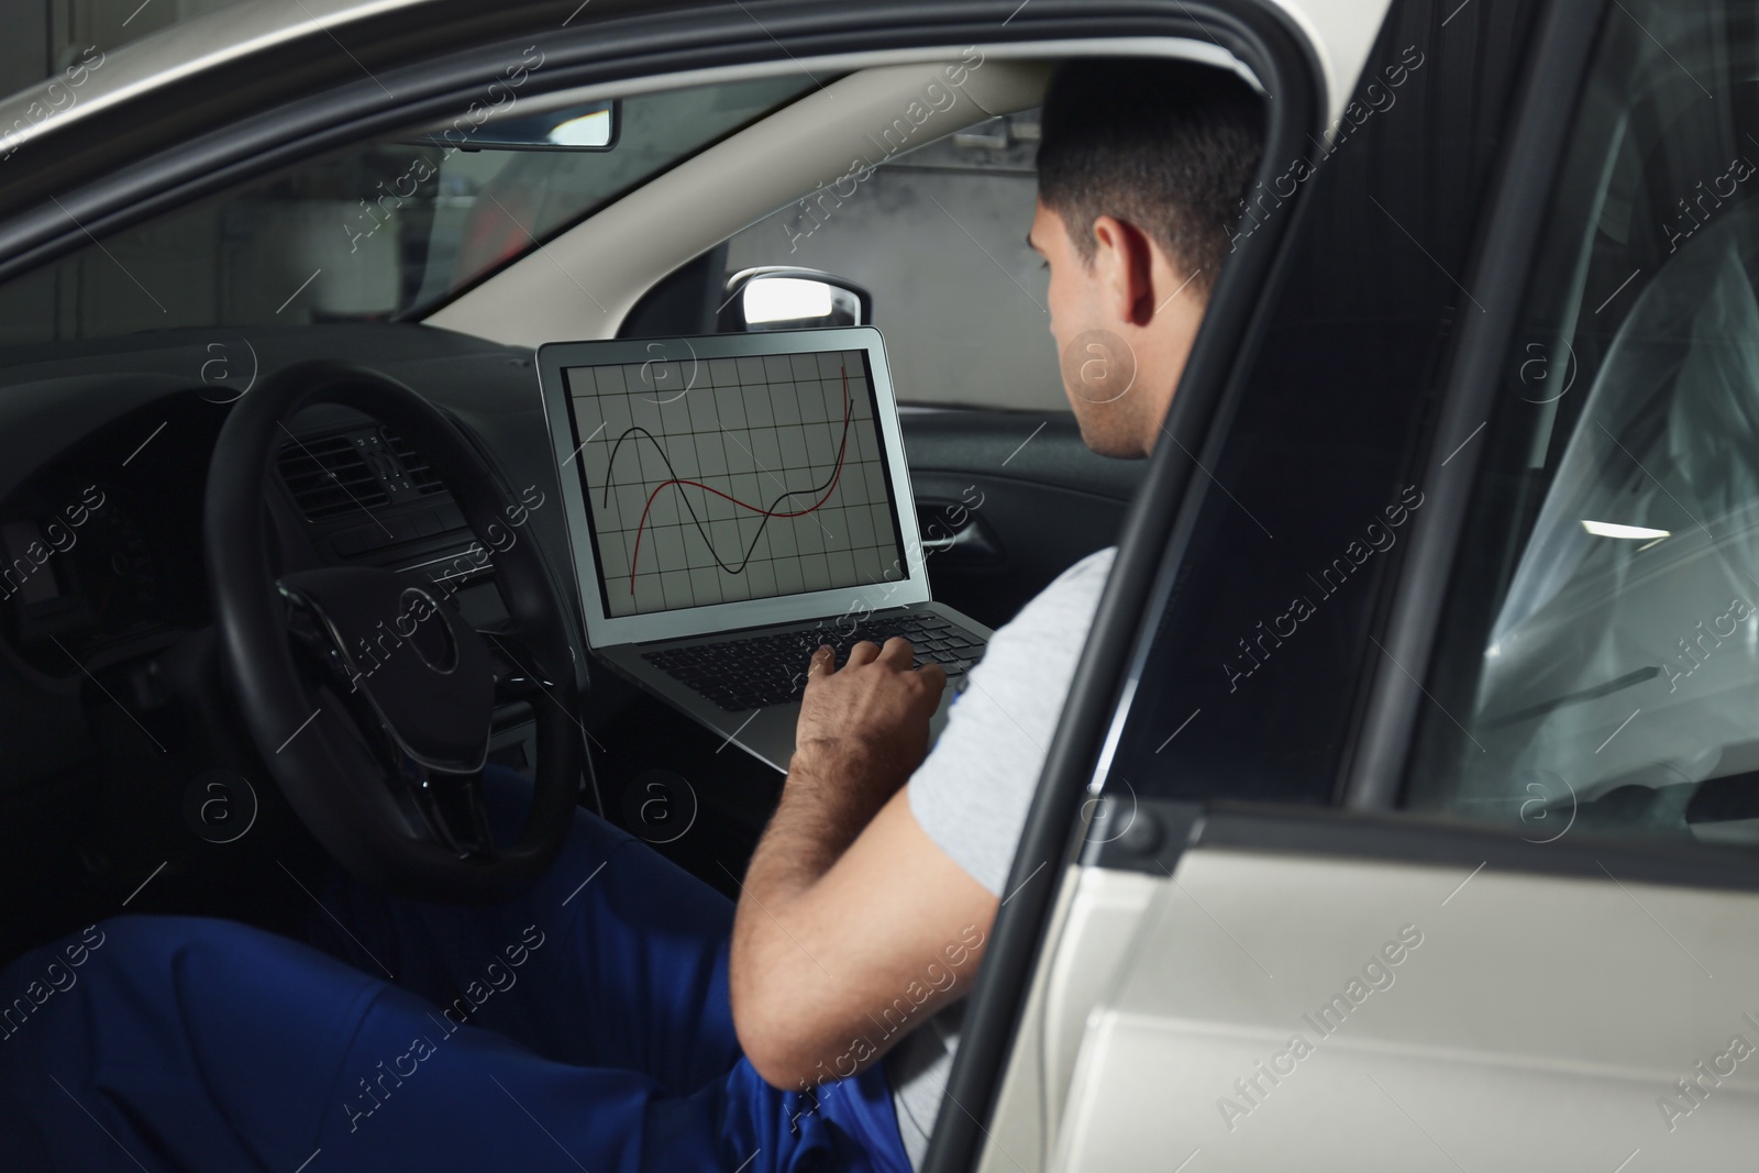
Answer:
[[598, 659], [786, 770], [813, 651], [902, 635], [939, 733], [990, 630], [929, 593], [880, 331], [549, 343], [538, 385]]

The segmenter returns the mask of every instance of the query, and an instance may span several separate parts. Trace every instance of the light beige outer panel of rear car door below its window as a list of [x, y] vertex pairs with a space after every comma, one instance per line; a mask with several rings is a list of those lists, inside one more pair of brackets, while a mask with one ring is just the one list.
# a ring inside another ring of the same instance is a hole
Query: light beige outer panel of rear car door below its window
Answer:
[[1048, 1168], [1713, 1168], [1759, 1141], [1745, 893], [1203, 846], [1152, 883]]

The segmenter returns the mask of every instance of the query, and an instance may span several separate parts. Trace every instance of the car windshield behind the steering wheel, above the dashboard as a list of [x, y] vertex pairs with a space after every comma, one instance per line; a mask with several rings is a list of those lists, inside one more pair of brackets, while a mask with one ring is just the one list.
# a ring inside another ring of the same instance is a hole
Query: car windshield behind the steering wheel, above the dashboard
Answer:
[[417, 318], [811, 84], [795, 74], [630, 97], [609, 151], [364, 144], [0, 285], [0, 345]]

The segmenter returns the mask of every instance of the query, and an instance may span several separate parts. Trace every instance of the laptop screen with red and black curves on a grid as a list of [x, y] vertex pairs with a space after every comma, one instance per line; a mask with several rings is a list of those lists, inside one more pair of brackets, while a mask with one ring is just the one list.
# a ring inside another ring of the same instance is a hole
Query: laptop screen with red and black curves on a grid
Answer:
[[901, 575], [860, 350], [656, 359], [566, 378], [609, 614]]

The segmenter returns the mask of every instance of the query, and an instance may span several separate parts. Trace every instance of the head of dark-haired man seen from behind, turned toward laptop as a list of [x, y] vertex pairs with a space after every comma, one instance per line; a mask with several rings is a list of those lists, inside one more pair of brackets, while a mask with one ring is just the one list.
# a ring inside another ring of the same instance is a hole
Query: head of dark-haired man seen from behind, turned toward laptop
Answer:
[[1027, 241], [1082, 440], [1147, 455], [1263, 149], [1238, 76], [1164, 58], [1082, 60], [1050, 81]]

